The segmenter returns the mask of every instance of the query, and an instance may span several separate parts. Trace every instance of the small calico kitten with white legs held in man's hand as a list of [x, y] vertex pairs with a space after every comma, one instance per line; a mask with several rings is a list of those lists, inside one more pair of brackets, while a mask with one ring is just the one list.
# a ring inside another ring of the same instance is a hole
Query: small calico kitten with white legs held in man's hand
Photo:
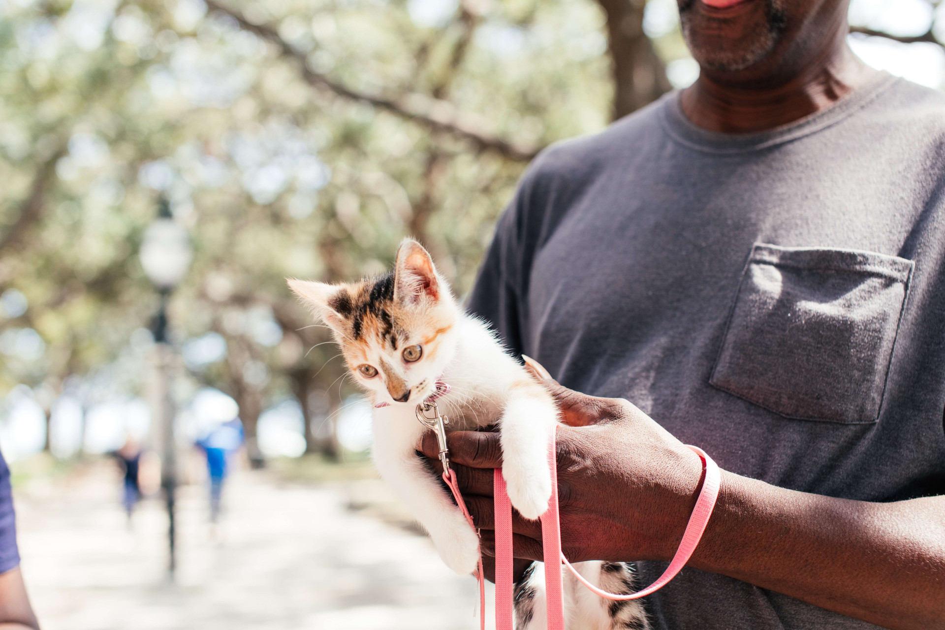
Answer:
[[[404, 240], [394, 269], [380, 278], [288, 283], [334, 332], [354, 380], [374, 407], [374, 464], [451, 569], [475, 570], [479, 538], [415, 451], [427, 431], [415, 409], [438, 382], [450, 387], [437, 399], [449, 430], [476, 430], [499, 418], [508, 497], [524, 518], [541, 516], [551, 497], [546, 449], [558, 422], [554, 400], [484, 322], [463, 312], [419, 243]], [[632, 575], [623, 563], [576, 567], [600, 587], [632, 592]], [[521, 630], [545, 627], [544, 573], [534, 568], [516, 585]], [[569, 628], [648, 627], [641, 604], [602, 600], [567, 573], [564, 583]]]

